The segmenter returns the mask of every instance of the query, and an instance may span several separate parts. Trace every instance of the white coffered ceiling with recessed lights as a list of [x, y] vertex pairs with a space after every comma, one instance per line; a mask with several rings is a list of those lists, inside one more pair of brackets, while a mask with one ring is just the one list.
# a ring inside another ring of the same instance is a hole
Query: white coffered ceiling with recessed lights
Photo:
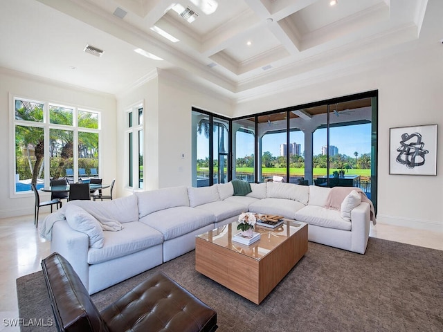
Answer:
[[[159, 68], [239, 98], [386, 56], [419, 37], [428, 5], [329, 2], [4, 0], [0, 66], [107, 93]], [[87, 44], [105, 52], [84, 53]]]

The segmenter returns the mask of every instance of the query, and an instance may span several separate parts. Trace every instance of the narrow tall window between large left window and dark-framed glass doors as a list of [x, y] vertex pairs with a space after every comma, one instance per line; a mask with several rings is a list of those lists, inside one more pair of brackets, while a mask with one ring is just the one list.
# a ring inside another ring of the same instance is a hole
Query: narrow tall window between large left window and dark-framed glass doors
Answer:
[[143, 107], [127, 112], [127, 186], [143, 189]]

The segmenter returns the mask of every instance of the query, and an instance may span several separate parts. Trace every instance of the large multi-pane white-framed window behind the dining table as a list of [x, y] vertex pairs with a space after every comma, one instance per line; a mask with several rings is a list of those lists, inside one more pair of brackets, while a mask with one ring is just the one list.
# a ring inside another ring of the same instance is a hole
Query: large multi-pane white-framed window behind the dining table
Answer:
[[[15, 193], [98, 169], [99, 113], [14, 98]], [[46, 167], [45, 167], [46, 166]]]

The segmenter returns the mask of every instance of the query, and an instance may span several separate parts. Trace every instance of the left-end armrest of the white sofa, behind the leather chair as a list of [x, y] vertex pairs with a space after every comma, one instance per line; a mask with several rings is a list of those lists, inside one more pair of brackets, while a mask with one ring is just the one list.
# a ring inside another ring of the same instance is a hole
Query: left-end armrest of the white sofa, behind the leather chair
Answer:
[[89, 289], [88, 250], [87, 234], [73, 230], [66, 220], [54, 223], [51, 252], [58, 252], [69, 261], [87, 289]]

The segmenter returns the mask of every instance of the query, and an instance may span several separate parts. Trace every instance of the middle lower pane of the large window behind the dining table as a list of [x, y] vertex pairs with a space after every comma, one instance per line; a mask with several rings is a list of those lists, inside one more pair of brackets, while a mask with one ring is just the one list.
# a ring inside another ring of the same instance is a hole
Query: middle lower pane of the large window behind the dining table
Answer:
[[73, 169], [74, 133], [71, 130], [49, 130], [49, 176], [63, 178], [69, 176], [66, 169]]

